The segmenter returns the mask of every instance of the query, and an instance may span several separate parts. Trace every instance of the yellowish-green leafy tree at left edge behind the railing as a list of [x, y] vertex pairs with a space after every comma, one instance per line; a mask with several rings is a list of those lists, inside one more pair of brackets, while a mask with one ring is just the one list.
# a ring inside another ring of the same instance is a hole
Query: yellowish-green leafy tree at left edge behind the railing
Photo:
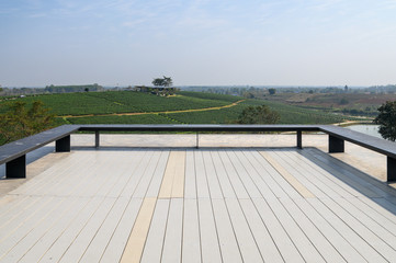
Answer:
[[8, 144], [52, 127], [54, 115], [44, 107], [43, 102], [26, 103], [16, 101], [8, 104], [8, 111], [0, 114], [0, 144]]

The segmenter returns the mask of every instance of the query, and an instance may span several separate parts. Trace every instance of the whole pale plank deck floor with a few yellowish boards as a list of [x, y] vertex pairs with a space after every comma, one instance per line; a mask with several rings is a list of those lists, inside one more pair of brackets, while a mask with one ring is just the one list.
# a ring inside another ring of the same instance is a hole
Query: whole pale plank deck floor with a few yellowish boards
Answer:
[[395, 188], [315, 148], [54, 155], [0, 198], [0, 262], [396, 261]]

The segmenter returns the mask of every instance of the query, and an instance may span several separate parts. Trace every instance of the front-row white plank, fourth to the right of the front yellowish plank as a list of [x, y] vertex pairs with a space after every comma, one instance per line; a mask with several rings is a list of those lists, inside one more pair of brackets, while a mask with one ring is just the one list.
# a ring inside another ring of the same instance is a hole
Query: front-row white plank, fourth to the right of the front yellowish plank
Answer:
[[199, 198], [201, 251], [203, 262], [222, 262], [217, 230], [208, 198]]

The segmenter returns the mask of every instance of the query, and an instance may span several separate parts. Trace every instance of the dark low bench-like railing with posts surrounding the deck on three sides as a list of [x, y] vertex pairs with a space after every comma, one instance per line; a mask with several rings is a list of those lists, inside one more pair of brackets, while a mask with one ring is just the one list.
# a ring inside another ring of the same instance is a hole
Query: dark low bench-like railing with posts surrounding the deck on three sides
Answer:
[[[303, 132], [329, 135], [329, 152], [343, 152], [344, 140], [387, 156], [387, 181], [396, 181], [396, 144], [332, 125], [64, 125], [0, 147], [0, 164], [5, 163], [7, 178], [26, 176], [25, 155], [56, 141], [56, 151], [70, 151], [70, 134], [95, 133], [100, 147], [100, 132], [296, 132], [296, 147], [303, 148]], [[199, 144], [196, 145], [199, 146]]]

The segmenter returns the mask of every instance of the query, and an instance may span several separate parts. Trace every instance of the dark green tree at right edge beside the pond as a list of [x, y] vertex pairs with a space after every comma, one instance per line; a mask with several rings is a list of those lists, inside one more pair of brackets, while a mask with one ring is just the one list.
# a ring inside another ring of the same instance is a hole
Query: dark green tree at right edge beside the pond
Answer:
[[380, 125], [380, 134], [384, 139], [396, 140], [396, 101], [382, 104], [374, 123]]

